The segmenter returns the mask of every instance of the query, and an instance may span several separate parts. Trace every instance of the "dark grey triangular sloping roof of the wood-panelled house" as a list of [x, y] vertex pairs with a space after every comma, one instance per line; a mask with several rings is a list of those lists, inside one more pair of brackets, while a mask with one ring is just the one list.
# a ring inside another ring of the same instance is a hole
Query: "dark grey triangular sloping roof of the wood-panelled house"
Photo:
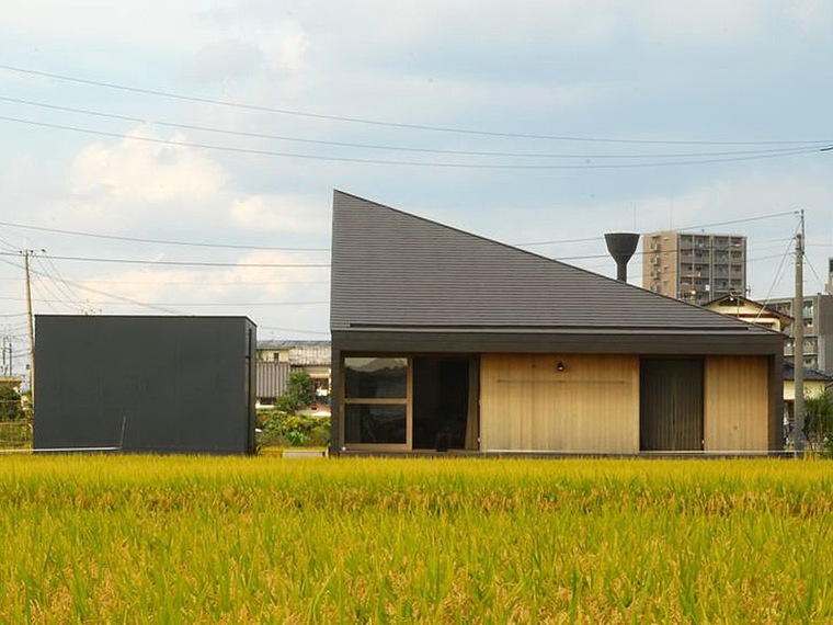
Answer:
[[330, 325], [333, 331], [773, 333], [340, 191]]

